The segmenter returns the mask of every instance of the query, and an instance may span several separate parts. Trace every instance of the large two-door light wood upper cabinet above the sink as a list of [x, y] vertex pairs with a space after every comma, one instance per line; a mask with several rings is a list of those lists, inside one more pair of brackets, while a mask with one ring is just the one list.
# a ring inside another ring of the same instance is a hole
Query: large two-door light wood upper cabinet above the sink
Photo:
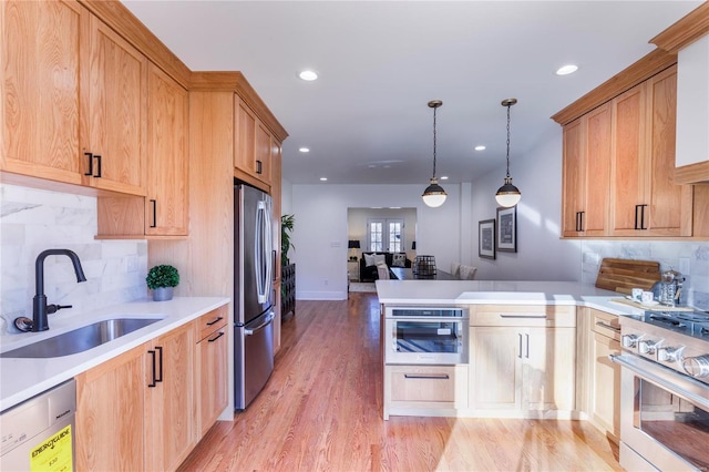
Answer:
[[76, 2], [1, 8], [2, 170], [145, 195], [147, 60]]

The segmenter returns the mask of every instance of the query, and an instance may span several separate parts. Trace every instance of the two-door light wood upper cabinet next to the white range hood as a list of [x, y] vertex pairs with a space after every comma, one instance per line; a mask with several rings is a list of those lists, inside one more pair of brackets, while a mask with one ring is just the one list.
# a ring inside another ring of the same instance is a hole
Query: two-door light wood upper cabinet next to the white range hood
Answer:
[[676, 185], [677, 68], [612, 101], [613, 236], [691, 236], [692, 187]]

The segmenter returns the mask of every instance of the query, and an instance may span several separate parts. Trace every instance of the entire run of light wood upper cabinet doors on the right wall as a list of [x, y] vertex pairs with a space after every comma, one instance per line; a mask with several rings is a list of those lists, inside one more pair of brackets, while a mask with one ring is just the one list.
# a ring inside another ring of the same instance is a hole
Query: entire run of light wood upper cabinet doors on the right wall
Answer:
[[675, 183], [677, 68], [564, 126], [564, 237], [706, 236], [706, 193]]

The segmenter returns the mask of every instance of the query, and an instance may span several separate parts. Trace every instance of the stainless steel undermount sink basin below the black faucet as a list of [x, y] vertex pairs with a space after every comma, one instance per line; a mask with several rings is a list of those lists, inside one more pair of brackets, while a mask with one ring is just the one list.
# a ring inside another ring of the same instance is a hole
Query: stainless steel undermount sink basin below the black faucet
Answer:
[[0, 353], [3, 358], [50, 358], [71, 356], [86, 351], [125, 336], [136, 329], [163, 318], [114, 318], [94, 322], [53, 338], [47, 338], [11, 351]]

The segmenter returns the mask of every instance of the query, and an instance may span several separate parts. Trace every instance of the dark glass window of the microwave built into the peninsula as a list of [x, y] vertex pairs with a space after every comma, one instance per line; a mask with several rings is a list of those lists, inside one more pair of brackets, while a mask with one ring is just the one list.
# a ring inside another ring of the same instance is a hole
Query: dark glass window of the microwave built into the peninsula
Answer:
[[460, 321], [397, 321], [398, 352], [459, 352]]

